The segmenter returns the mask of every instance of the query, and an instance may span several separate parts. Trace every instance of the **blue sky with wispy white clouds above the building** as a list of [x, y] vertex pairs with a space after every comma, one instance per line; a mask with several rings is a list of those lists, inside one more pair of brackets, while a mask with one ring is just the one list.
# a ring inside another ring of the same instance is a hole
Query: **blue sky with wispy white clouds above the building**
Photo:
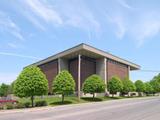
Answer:
[[159, 0], [0, 0], [0, 83], [80, 43], [140, 65], [130, 79], [149, 81], [160, 71], [159, 13]]

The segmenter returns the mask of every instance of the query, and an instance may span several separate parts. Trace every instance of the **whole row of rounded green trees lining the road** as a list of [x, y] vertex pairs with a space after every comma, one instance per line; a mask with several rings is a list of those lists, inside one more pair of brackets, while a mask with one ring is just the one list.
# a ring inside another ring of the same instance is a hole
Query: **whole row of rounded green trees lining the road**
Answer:
[[[106, 89], [112, 94], [112, 97], [117, 92], [120, 92], [121, 95], [129, 95], [129, 92], [136, 91], [139, 96], [142, 93], [155, 94], [160, 92], [160, 74], [145, 83], [141, 80], [133, 83], [129, 78], [120, 80], [114, 76], [108, 81], [107, 86], [100, 76], [94, 74], [86, 78], [82, 86], [83, 92], [92, 94], [93, 98], [95, 93], [104, 93]], [[75, 80], [72, 75], [66, 70], [61, 71], [53, 80], [52, 91], [55, 94], [61, 94], [62, 102], [64, 102], [65, 95], [75, 92]], [[34, 96], [48, 94], [48, 81], [40, 68], [26, 67], [12, 85], [0, 85], [0, 96], [7, 96], [12, 92], [18, 97], [30, 97], [32, 106], [34, 106]]]

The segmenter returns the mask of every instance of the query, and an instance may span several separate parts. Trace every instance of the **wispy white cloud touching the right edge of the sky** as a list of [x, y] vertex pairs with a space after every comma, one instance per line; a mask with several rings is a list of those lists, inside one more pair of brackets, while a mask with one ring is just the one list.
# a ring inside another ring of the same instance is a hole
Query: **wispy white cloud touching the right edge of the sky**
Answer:
[[141, 17], [131, 26], [131, 35], [135, 38], [138, 46], [160, 32], [160, 17], [157, 13], [143, 13]]

